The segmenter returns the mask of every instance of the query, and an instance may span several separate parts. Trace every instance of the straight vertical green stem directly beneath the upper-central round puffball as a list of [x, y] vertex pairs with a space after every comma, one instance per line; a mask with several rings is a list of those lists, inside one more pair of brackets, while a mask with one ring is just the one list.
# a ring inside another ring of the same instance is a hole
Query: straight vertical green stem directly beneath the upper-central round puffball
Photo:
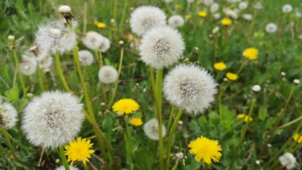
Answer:
[[156, 100], [158, 102], [158, 147], [159, 147], [159, 170], [163, 170], [163, 139], [162, 139], [162, 113], [161, 113], [161, 102], [162, 102], [162, 69], [157, 69], [156, 72]]

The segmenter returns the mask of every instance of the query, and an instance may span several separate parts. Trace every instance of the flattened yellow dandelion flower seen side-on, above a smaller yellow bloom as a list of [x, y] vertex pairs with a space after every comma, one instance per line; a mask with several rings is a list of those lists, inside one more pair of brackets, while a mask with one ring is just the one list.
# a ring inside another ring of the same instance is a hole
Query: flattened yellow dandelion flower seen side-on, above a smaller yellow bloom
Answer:
[[113, 111], [120, 114], [130, 114], [134, 111], [137, 111], [140, 108], [140, 105], [131, 98], [123, 98], [115, 102], [112, 106]]

